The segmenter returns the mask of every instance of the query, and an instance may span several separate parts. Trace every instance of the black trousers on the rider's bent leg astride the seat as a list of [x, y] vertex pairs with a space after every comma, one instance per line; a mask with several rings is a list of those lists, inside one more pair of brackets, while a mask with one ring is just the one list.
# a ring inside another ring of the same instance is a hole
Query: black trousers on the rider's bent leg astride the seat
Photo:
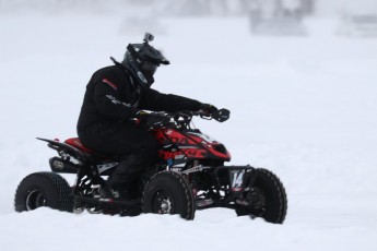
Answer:
[[107, 181], [111, 189], [131, 190], [141, 174], [156, 162], [157, 141], [137, 124], [98, 122], [78, 133], [87, 148], [120, 157]]

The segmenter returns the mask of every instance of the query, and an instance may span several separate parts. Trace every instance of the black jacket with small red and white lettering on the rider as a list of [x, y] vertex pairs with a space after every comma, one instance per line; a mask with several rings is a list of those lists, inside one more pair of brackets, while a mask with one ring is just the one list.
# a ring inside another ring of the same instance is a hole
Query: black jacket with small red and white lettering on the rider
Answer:
[[96, 71], [86, 86], [78, 132], [101, 121], [130, 120], [139, 110], [196, 111], [200, 105], [190, 98], [140, 88], [120, 65], [106, 67]]

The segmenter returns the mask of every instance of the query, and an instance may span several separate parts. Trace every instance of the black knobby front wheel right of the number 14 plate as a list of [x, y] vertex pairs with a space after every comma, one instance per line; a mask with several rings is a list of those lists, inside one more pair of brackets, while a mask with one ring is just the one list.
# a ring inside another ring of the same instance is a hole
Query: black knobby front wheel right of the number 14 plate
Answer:
[[244, 192], [247, 206], [236, 208], [237, 215], [262, 217], [269, 223], [282, 224], [286, 215], [287, 200], [280, 179], [273, 172], [258, 168], [246, 175], [245, 183], [248, 184]]

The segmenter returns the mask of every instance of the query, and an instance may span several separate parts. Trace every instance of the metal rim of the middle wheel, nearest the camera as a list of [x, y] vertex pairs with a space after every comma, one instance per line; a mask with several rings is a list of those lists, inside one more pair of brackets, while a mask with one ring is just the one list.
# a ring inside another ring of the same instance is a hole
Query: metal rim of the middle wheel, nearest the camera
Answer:
[[152, 211], [157, 214], [174, 214], [175, 201], [169, 191], [158, 190], [152, 200]]

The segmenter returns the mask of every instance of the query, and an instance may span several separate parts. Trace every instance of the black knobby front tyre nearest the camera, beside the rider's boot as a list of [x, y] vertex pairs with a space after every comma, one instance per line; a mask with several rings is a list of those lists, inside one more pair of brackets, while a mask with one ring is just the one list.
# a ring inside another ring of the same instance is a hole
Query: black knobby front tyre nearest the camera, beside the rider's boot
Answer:
[[154, 214], [179, 214], [193, 219], [196, 205], [190, 184], [175, 171], [161, 171], [145, 186], [143, 212]]

